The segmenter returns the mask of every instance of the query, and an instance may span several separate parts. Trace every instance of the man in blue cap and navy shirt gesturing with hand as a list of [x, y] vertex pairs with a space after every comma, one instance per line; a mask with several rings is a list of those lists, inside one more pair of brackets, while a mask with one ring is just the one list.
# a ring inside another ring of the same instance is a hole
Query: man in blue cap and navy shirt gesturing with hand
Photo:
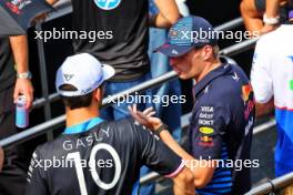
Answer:
[[169, 32], [158, 51], [170, 58], [180, 79], [194, 79], [194, 106], [185, 151], [154, 117], [130, 107], [133, 117], [153, 130], [191, 168], [199, 194], [244, 194], [250, 189], [253, 91], [245, 73], [219, 59], [218, 33], [203, 18], [186, 17]]

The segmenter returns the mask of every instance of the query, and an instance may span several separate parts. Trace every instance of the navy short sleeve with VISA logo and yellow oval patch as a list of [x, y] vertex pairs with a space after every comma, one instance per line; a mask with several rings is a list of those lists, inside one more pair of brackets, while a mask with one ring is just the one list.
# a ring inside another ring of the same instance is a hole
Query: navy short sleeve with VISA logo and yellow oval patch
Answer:
[[229, 109], [202, 103], [191, 117], [191, 148], [196, 160], [219, 160], [230, 123]]

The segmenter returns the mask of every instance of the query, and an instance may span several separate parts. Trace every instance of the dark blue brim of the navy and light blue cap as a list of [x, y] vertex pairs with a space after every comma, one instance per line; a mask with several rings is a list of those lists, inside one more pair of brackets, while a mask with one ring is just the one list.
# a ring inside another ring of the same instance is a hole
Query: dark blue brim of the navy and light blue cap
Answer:
[[194, 48], [194, 45], [172, 45], [169, 43], [165, 43], [154, 50], [154, 52], [161, 52], [168, 57], [175, 58], [181, 57], [189, 51], [191, 51]]

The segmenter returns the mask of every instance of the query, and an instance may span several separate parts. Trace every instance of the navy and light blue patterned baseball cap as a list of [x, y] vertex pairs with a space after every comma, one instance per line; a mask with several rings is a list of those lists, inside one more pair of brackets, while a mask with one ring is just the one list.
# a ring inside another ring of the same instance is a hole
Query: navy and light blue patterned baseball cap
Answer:
[[174, 58], [206, 44], [218, 44], [218, 34], [212, 24], [201, 17], [190, 16], [180, 19], [171, 27], [166, 43], [155, 51]]

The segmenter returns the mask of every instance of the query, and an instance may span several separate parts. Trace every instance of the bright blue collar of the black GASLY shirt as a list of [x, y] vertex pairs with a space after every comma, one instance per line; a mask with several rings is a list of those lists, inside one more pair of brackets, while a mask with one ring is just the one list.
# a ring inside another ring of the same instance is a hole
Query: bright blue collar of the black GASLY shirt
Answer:
[[75, 133], [87, 132], [88, 130], [100, 124], [101, 122], [103, 122], [103, 120], [101, 117], [93, 117], [93, 119], [85, 121], [83, 123], [67, 127], [64, 130], [63, 134], [75, 134]]

